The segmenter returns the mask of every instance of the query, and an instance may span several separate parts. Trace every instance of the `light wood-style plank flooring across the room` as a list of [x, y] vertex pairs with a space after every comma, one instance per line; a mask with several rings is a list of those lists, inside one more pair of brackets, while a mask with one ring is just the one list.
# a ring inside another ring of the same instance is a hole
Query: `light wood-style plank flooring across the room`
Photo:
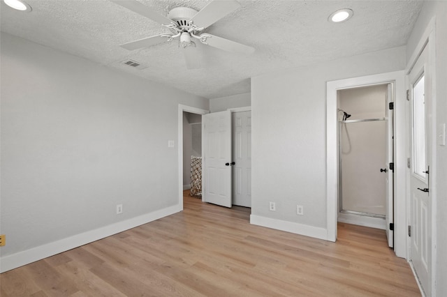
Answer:
[[0, 275], [10, 296], [420, 296], [383, 230], [338, 241], [249, 224], [249, 208], [184, 211]]

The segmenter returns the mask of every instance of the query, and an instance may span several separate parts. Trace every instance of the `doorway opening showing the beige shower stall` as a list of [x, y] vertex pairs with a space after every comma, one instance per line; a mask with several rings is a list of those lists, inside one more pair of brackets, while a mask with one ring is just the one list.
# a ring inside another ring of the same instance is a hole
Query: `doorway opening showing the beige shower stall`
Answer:
[[392, 89], [377, 84], [337, 91], [339, 222], [378, 229], [393, 223]]

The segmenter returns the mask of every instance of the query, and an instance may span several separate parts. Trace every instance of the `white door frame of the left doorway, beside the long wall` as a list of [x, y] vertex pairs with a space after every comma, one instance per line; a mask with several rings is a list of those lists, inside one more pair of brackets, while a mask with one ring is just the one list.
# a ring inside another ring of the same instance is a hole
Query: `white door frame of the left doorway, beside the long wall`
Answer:
[[[206, 109], [200, 109], [197, 107], [187, 106], [179, 104], [178, 107], [178, 160], [179, 160], [179, 209], [183, 211], [183, 112], [191, 112], [191, 114], [209, 114], [210, 111]], [[203, 130], [202, 130], [203, 132]], [[202, 142], [203, 152], [203, 142]], [[202, 197], [203, 200], [203, 197]]]

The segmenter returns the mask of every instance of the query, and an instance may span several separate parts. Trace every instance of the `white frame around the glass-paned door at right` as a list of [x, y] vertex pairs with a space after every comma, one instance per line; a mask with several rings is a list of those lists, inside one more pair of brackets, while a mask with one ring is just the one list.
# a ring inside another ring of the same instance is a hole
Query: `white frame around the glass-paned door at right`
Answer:
[[[427, 46], [428, 48], [428, 63], [430, 65], [430, 75], [432, 77], [432, 109], [430, 110], [430, 113], [432, 114], [430, 121], [432, 121], [432, 130], [429, 131], [431, 133], [430, 139], [431, 139], [431, 162], [430, 162], [430, 180], [436, 181], [437, 180], [437, 155], [436, 155], [436, 148], [437, 148], [437, 134], [436, 134], [436, 40], [435, 40], [435, 24], [436, 24], [436, 17], [432, 17], [432, 20], [428, 23], [427, 27], [425, 28], [425, 31], [423, 32], [422, 36], [420, 37], [420, 40], [418, 42], [418, 45], [416, 46], [414, 52], [411, 54], [411, 57], [406, 64], [405, 68], [405, 75], [409, 75], [411, 72], [411, 69], [413, 68], [414, 64], [418, 60], [418, 57], [420, 53], [424, 50], [424, 47]], [[408, 77], [405, 77], [405, 86], [408, 85]], [[407, 107], [409, 108], [409, 107]], [[410, 119], [406, 119], [406, 133], [409, 135], [410, 133]], [[408, 156], [410, 156], [410, 147], [409, 147], [409, 141], [406, 143], [406, 153]], [[409, 180], [410, 176], [410, 169], [406, 170], [406, 176]], [[406, 191], [409, 193], [409, 183], [406, 185]], [[430, 277], [430, 290], [429, 294], [435, 294], [436, 293], [436, 271], [437, 271], [437, 189], [436, 189], [436, 182], [432, 182], [431, 185], [429, 185], [430, 188], [430, 199], [432, 201], [432, 246], [430, 247], [432, 249], [432, 259], [431, 259], [431, 271], [429, 271], [429, 277]], [[406, 224], [410, 224], [410, 206], [408, 205], [406, 208], [406, 215], [408, 220], [406, 221]], [[409, 257], [409, 248], [410, 248], [410, 238], [406, 237], [406, 254]], [[408, 258], [407, 258], [408, 259]], [[413, 270], [413, 266], [410, 262], [411, 269]], [[413, 270], [414, 273], [414, 270]], [[415, 274], [416, 277], [416, 274]], [[416, 277], [416, 280], [418, 278]], [[420, 284], [419, 289], [421, 289]], [[421, 289], [422, 292], [422, 289]], [[434, 295], [433, 295], [434, 296]]]

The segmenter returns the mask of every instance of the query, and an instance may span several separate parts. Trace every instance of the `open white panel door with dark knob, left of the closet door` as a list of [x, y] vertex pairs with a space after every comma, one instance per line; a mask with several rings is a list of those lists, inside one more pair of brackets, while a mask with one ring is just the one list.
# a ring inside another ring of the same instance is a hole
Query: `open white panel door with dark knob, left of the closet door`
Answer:
[[202, 116], [205, 164], [205, 202], [231, 207], [231, 112]]

